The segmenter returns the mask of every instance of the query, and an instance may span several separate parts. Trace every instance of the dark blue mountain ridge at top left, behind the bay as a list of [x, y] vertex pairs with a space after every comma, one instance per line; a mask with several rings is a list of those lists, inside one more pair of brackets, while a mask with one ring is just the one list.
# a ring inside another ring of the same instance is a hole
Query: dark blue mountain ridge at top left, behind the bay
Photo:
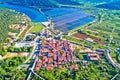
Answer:
[[57, 3], [54, 0], [0, 0], [0, 2], [25, 7], [30, 6], [37, 6], [41, 8], [57, 7]]

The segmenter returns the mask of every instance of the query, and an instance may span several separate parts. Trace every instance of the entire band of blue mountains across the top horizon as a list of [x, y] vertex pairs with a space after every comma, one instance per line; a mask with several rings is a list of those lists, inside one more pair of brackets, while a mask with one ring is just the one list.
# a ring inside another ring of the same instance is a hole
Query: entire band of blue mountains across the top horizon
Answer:
[[[81, 3], [82, 2], [82, 3]], [[59, 4], [81, 5], [85, 2], [103, 3], [97, 5], [98, 8], [120, 10], [120, 0], [0, 0], [0, 3], [8, 3], [25, 7], [56, 8]]]

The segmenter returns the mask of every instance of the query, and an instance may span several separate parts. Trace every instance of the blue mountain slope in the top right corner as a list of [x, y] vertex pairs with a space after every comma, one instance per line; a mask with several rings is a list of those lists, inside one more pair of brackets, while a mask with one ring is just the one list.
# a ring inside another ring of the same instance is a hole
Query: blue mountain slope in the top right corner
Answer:
[[120, 10], [120, 0], [110, 2], [110, 3], [107, 3], [107, 4], [97, 5], [96, 7], [105, 8], [105, 9], [111, 9], [111, 10]]

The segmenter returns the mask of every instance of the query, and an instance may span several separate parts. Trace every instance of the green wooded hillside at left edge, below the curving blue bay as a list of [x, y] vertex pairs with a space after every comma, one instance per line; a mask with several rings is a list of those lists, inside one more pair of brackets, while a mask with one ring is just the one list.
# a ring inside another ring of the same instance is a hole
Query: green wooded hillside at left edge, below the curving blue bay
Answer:
[[20, 15], [18, 12], [0, 7], [0, 43], [7, 41], [9, 31], [15, 32], [15, 30], [9, 28], [9, 25], [19, 23], [17, 17]]

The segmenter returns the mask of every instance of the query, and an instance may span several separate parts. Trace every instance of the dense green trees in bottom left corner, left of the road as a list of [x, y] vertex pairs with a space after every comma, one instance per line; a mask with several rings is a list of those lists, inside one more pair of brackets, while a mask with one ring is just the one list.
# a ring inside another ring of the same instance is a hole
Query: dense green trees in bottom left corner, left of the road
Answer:
[[26, 59], [26, 57], [13, 57], [0, 61], [0, 80], [24, 80], [26, 71], [17, 67]]

